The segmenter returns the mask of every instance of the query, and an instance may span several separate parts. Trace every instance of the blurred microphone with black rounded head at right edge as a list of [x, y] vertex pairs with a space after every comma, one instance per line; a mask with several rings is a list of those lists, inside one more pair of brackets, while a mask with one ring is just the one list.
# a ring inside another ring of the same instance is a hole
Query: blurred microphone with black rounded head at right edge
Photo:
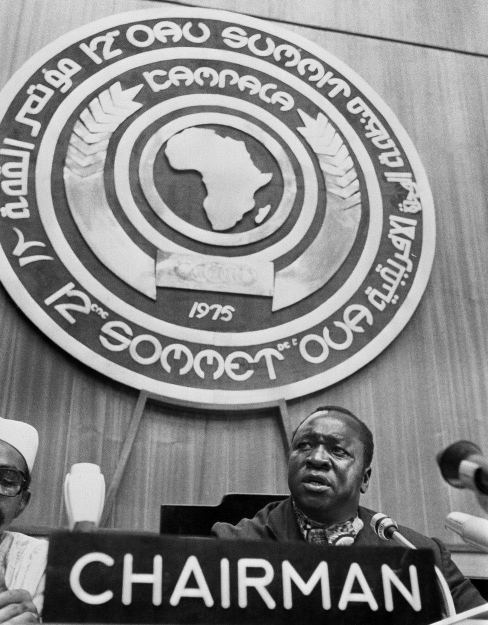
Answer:
[[437, 454], [436, 460], [448, 484], [488, 495], [488, 461], [474, 442], [453, 442]]

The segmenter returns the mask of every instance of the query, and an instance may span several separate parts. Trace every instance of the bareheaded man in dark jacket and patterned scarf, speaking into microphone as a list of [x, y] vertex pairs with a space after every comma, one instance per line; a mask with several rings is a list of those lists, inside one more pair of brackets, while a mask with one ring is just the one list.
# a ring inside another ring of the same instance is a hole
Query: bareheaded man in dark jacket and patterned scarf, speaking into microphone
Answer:
[[[364, 422], [344, 408], [319, 407], [292, 436], [291, 497], [268, 504], [253, 519], [242, 519], [236, 526], [216, 523], [212, 532], [224, 539], [385, 546], [370, 526], [374, 512], [359, 506], [359, 497], [369, 485], [372, 455], [372, 434]], [[399, 531], [416, 547], [434, 552], [457, 612], [485, 603], [441, 541], [407, 527], [400, 526]]]

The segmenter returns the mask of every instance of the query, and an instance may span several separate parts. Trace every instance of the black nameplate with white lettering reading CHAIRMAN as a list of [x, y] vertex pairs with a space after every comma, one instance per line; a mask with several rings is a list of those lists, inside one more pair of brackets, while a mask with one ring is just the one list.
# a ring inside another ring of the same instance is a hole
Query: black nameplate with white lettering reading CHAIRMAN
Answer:
[[56, 532], [46, 622], [416, 624], [440, 617], [429, 551]]

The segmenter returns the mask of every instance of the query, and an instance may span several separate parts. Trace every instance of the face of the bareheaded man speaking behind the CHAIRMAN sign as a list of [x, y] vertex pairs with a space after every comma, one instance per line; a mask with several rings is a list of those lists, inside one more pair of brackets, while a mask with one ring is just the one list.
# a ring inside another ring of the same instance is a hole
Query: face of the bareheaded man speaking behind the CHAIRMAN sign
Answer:
[[329, 525], [356, 516], [371, 468], [357, 423], [341, 412], [316, 412], [298, 429], [288, 461], [288, 486], [309, 518]]

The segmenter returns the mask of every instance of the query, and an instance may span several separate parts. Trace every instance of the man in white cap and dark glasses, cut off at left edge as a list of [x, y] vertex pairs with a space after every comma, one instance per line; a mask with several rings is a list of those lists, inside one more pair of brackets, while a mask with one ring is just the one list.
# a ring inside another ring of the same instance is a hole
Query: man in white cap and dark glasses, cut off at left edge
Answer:
[[22, 421], [0, 418], [0, 622], [39, 622], [47, 541], [9, 532], [31, 498], [39, 437]]

